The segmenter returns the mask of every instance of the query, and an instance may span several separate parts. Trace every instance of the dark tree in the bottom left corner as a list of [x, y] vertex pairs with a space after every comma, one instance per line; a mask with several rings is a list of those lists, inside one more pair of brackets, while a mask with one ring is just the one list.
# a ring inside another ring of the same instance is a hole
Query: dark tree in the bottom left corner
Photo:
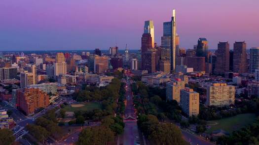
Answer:
[[0, 143], [1, 145], [12, 145], [15, 137], [13, 132], [9, 129], [0, 129]]

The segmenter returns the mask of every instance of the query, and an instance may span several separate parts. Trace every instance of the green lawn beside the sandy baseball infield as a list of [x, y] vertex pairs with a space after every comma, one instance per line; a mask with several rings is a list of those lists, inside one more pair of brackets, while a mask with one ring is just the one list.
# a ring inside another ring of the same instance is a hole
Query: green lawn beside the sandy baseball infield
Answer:
[[71, 107], [70, 105], [65, 106], [65, 110], [69, 112], [75, 112], [75, 111], [91, 111], [94, 109], [102, 109], [102, 104], [99, 102], [82, 102], [78, 104], [83, 104], [84, 106], [82, 107]]

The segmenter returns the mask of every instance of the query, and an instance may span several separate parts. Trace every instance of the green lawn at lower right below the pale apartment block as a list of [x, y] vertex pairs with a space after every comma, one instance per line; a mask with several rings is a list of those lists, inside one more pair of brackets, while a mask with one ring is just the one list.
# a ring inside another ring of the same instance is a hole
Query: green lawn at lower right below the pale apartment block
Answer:
[[218, 123], [217, 125], [211, 125], [211, 128], [206, 131], [206, 133], [212, 133], [215, 130], [225, 130], [228, 133], [239, 130], [242, 127], [249, 125], [255, 121], [255, 114], [241, 114], [233, 117], [223, 118], [220, 120], [209, 121], [208, 124], [213, 124], [213, 122]]

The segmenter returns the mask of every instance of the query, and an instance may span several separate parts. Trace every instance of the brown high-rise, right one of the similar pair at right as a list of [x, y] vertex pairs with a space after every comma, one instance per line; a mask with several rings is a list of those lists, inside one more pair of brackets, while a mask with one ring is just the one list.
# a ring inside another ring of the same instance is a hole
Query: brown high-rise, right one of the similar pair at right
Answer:
[[234, 53], [233, 53], [233, 72], [239, 74], [247, 73], [247, 53], [246, 53], [246, 43], [235, 42], [234, 43]]

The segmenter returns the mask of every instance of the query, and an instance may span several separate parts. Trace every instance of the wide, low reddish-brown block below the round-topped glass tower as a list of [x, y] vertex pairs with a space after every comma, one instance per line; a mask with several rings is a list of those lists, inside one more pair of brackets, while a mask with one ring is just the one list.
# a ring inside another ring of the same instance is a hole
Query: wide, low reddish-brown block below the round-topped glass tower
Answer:
[[204, 57], [185, 57], [185, 64], [187, 67], [192, 67], [193, 71], [205, 71]]

